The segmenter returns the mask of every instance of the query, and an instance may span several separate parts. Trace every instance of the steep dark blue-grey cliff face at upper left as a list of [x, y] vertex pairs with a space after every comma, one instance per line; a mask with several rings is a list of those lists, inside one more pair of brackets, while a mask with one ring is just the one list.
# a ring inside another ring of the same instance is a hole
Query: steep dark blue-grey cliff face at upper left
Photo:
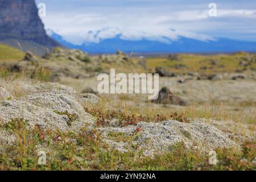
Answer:
[[0, 42], [23, 43], [23, 51], [60, 46], [46, 34], [34, 0], [0, 0]]

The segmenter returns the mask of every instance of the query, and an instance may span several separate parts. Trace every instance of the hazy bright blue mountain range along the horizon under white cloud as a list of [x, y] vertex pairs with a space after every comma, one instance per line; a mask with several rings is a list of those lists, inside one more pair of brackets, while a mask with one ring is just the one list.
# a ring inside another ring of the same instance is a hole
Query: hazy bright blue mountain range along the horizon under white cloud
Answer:
[[256, 52], [256, 42], [245, 42], [219, 38], [216, 40], [201, 41], [179, 37], [173, 41], [164, 38], [167, 43], [157, 40], [124, 40], [122, 35], [118, 34], [114, 38], [103, 39], [99, 43], [83, 43], [80, 46], [69, 43], [62, 36], [51, 32], [51, 38], [63, 44], [68, 48], [82, 49], [89, 53], [114, 53], [117, 49], [123, 52], [140, 52], [140, 53], [218, 53], [218, 52], [237, 52], [247, 51]]

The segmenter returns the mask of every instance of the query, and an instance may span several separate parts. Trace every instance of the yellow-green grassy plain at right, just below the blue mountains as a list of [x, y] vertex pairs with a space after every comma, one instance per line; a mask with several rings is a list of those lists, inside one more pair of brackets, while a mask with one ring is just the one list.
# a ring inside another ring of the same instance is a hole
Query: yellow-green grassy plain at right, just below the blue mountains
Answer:
[[[154, 71], [156, 67], [166, 68], [174, 73], [198, 72], [199, 74], [214, 74], [216, 72], [234, 73], [238, 70], [255, 69], [255, 55], [238, 52], [232, 55], [179, 55], [170, 57], [149, 57], [147, 68]], [[247, 61], [250, 61], [247, 64]]]

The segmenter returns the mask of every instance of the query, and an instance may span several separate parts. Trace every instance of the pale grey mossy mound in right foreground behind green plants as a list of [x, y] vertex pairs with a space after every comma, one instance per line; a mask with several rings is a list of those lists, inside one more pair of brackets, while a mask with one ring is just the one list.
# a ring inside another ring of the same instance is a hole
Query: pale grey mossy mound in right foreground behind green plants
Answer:
[[[222, 123], [222, 125], [224, 125]], [[139, 132], [136, 131], [140, 129]], [[227, 133], [208, 125], [203, 121], [182, 123], [174, 120], [160, 123], [139, 122], [136, 126], [99, 128], [104, 135], [104, 140], [110, 147], [127, 152], [125, 142], [117, 142], [109, 137], [109, 133], [118, 133], [126, 137], [133, 137], [133, 144], [138, 146], [138, 151], [143, 148], [145, 155], [163, 154], [172, 151], [172, 146], [177, 142], [184, 142], [185, 147], [199, 152], [209, 152], [215, 148], [239, 147], [239, 144], [229, 138]], [[135, 135], [136, 133], [136, 135]]]

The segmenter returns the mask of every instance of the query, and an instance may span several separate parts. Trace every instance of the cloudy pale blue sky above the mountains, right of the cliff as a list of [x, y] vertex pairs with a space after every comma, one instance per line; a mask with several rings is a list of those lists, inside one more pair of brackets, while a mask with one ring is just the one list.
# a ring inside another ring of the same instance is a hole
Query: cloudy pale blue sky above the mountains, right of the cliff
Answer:
[[[98, 43], [121, 35], [126, 40], [169, 42], [179, 36], [202, 41], [229, 38], [256, 42], [255, 0], [36, 0], [41, 17], [73, 44]], [[216, 16], [210, 14], [216, 5]], [[51, 31], [48, 31], [51, 34]]]

